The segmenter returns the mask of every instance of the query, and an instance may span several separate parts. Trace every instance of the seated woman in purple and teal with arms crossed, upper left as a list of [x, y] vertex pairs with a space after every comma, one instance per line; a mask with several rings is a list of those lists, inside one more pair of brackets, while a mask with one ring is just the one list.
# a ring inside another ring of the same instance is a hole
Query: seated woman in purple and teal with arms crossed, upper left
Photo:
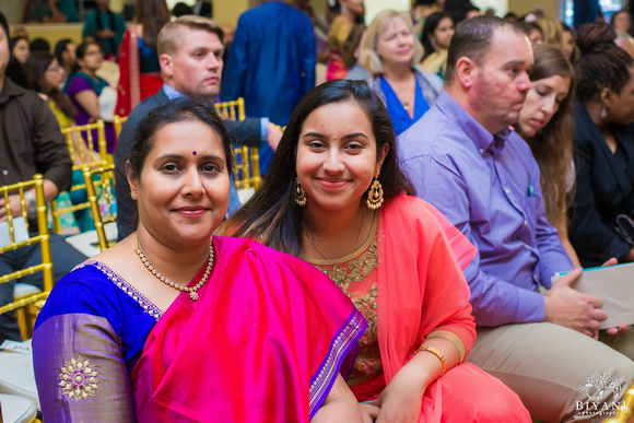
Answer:
[[[93, 124], [98, 119], [106, 122], [113, 120], [117, 94], [106, 80], [96, 74], [103, 61], [104, 54], [98, 44], [82, 43], [77, 48], [74, 71], [63, 86], [63, 92], [77, 109], [77, 125]], [[96, 140], [96, 130], [93, 133]], [[106, 124], [106, 143], [108, 153], [115, 151], [115, 130], [111, 124]]]

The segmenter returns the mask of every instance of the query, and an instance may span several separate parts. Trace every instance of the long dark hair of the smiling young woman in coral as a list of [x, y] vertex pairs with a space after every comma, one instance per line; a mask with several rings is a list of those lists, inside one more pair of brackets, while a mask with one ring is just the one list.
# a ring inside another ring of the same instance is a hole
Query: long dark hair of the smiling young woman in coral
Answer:
[[[221, 226], [224, 234], [257, 238], [269, 247], [295, 256], [301, 252], [304, 226], [310, 224], [302, 208], [295, 203], [295, 165], [302, 128], [317, 108], [342, 102], [352, 102], [365, 111], [376, 139], [377, 154], [385, 144], [389, 148], [378, 177], [385, 200], [403, 191], [415, 195], [412, 184], [399, 166], [396, 134], [380, 98], [365, 81], [329, 81], [317, 85], [302, 98], [293, 111], [260, 189]], [[362, 201], [365, 203], [364, 199]]]

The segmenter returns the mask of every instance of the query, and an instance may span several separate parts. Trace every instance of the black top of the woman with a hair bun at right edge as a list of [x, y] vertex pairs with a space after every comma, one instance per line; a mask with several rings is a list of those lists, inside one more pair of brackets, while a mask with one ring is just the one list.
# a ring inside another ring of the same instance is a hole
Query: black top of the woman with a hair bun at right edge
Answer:
[[574, 136], [577, 188], [568, 209], [568, 236], [582, 266], [621, 260], [631, 246], [614, 231], [617, 215], [634, 218], [634, 128], [610, 125], [612, 153], [586, 108], [577, 103]]

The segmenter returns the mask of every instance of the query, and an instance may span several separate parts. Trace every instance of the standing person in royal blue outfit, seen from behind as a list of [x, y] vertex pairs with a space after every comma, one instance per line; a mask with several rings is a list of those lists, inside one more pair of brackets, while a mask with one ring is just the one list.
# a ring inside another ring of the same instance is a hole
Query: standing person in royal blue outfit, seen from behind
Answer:
[[[247, 117], [268, 116], [286, 126], [300, 99], [315, 86], [317, 52], [310, 19], [278, 1], [244, 12], [231, 45], [223, 101], [245, 98]], [[260, 169], [273, 152], [260, 148]]]

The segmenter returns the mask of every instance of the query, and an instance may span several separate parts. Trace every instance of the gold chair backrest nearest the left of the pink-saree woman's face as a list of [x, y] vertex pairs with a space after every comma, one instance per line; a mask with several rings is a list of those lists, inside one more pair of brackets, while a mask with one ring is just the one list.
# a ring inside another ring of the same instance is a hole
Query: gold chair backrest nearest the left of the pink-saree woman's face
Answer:
[[110, 247], [104, 225], [116, 222], [117, 202], [115, 198], [115, 165], [110, 164], [96, 169], [85, 167], [83, 171], [91, 214], [99, 238], [99, 249]]

